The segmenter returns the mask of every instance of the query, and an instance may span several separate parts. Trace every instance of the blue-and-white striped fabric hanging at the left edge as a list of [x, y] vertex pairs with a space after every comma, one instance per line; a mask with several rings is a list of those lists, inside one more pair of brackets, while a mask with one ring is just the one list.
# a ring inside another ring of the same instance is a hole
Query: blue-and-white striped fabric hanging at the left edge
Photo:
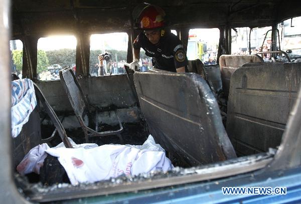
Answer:
[[17, 137], [37, 105], [35, 88], [30, 79], [12, 81], [12, 136]]

